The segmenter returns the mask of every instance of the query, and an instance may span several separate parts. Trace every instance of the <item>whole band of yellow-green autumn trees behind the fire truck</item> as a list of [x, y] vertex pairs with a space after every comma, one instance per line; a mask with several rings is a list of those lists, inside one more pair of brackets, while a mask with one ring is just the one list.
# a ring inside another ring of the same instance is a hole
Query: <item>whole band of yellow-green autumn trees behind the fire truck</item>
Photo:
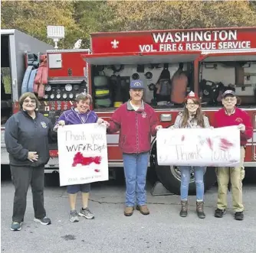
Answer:
[[61, 48], [77, 39], [90, 47], [90, 33], [173, 28], [256, 26], [249, 1], [2, 1], [2, 28], [15, 28], [52, 44], [47, 25], [64, 25]]

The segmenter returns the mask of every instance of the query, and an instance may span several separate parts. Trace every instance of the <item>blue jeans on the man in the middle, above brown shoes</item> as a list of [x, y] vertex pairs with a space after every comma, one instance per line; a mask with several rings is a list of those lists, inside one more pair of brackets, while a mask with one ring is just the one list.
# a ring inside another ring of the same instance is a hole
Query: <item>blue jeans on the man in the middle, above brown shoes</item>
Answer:
[[146, 170], [149, 152], [141, 154], [124, 154], [123, 167], [126, 177], [126, 206], [146, 204]]

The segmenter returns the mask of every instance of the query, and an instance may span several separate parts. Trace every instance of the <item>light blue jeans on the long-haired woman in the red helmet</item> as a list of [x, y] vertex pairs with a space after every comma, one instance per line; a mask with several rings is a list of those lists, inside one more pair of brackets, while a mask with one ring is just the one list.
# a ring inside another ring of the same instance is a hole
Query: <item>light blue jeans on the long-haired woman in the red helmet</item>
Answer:
[[[179, 167], [182, 174], [182, 181], [180, 184], [180, 195], [182, 200], [187, 200], [189, 195], [189, 180], [190, 180], [190, 166]], [[196, 200], [204, 200], [205, 184], [204, 173], [205, 167], [194, 167], [195, 171], [195, 185], [196, 185]]]

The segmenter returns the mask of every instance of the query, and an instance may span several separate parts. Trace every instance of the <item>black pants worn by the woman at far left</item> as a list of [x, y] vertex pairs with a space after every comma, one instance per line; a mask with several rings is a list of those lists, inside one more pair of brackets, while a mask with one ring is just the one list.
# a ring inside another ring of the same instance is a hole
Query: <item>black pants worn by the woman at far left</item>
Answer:
[[33, 195], [34, 218], [44, 218], [46, 216], [44, 209], [44, 166], [11, 166], [11, 178], [15, 185], [12, 221], [23, 222], [30, 184]]

